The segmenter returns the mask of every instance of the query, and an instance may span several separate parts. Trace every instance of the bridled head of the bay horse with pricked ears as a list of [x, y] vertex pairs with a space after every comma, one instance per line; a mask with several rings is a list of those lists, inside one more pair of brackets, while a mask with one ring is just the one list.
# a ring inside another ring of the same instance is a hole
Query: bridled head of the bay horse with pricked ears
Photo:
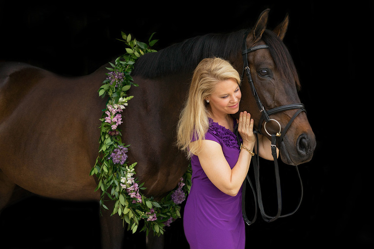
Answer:
[[[249, 111], [255, 128], [270, 140], [272, 134], [278, 133], [282, 138], [277, 142], [281, 160], [299, 165], [312, 159], [316, 138], [300, 104], [295, 65], [282, 41], [288, 15], [270, 31], [266, 29], [268, 12], [269, 9], [262, 12], [244, 37], [243, 68], [246, 64], [247, 68], [243, 72], [247, 74], [243, 73], [240, 111]], [[300, 108], [302, 111], [298, 112]]]

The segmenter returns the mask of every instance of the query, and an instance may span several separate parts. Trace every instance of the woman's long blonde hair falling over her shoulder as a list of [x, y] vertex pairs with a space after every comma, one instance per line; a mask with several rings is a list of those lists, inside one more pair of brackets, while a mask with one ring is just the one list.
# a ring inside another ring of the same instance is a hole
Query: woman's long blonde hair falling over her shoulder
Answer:
[[[232, 65], [221, 58], [206, 58], [197, 65], [187, 101], [177, 125], [177, 146], [188, 158], [200, 150], [209, 127], [206, 98], [213, 93], [218, 82], [234, 78], [240, 86], [240, 76]], [[197, 141], [191, 145], [192, 139]]]

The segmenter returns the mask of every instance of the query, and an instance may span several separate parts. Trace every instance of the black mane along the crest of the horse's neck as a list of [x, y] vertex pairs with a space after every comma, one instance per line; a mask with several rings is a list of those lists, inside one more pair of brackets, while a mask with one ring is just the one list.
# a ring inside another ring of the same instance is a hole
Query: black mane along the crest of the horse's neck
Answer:
[[192, 73], [199, 62], [207, 57], [216, 56], [226, 60], [239, 58], [243, 34], [244, 31], [237, 31], [196, 36], [156, 53], [147, 53], [136, 61], [131, 75], [151, 78], [179, 72]]

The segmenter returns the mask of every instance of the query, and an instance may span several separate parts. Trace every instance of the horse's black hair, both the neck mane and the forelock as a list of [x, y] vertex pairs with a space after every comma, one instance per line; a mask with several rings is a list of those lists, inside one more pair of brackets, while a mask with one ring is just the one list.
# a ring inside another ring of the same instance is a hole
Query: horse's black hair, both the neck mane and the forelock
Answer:
[[[216, 56], [228, 60], [242, 56], [244, 32], [245, 30], [240, 30], [225, 35], [196, 36], [159, 52], [147, 53], [136, 61], [131, 75], [153, 78], [181, 72], [192, 74], [203, 58]], [[281, 39], [273, 31], [265, 30], [262, 40], [269, 45], [270, 54], [282, 77], [287, 77], [288, 81], [295, 82], [299, 87], [299, 76], [294, 62]], [[242, 73], [242, 69], [236, 70]]]

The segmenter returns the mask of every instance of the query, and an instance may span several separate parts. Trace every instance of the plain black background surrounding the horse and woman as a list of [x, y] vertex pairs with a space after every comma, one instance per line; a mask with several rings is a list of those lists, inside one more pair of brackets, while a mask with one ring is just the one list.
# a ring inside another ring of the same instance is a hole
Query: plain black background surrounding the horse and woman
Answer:
[[[366, 248], [374, 244], [368, 170], [373, 163], [367, 161], [372, 155], [359, 140], [360, 134], [370, 136], [371, 125], [361, 120], [359, 110], [370, 105], [362, 91], [373, 82], [368, 64], [373, 1], [333, 2], [1, 0], [0, 60], [27, 62], [63, 75], [85, 75], [124, 52], [122, 42], [116, 40], [121, 31], [140, 41], [156, 32], [159, 42], [154, 49], [160, 50], [197, 35], [249, 28], [266, 8], [271, 9], [269, 29], [289, 13], [283, 41], [299, 71], [299, 95], [317, 148], [314, 158], [299, 166], [304, 184], [299, 211], [270, 224], [259, 217], [246, 228], [247, 248]], [[291, 172], [291, 166], [282, 167]], [[294, 199], [297, 191], [289, 192], [290, 200]], [[291, 204], [285, 204], [286, 209], [292, 210]], [[0, 238], [0, 248], [99, 249], [98, 204], [42, 197], [21, 201], [1, 213]], [[144, 233], [126, 234], [126, 240], [126, 248], [145, 247]], [[188, 248], [182, 219], [167, 230], [166, 248]]]

